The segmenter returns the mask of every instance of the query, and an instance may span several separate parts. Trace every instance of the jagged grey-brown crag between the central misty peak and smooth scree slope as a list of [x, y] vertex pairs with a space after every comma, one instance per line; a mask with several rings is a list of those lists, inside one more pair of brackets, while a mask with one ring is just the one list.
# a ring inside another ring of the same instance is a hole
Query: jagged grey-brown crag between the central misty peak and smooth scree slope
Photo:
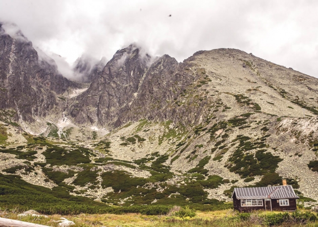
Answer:
[[169, 55], [164, 55], [154, 62], [141, 81], [135, 99], [119, 116], [114, 126], [119, 127], [139, 119], [172, 121], [181, 126], [197, 123], [198, 116], [204, 115], [207, 105], [205, 100], [194, 98], [189, 101], [189, 105], [182, 106], [175, 102], [177, 97], [200, 77], [189, 71], [189, 67], [190, 62], [179, 64]]

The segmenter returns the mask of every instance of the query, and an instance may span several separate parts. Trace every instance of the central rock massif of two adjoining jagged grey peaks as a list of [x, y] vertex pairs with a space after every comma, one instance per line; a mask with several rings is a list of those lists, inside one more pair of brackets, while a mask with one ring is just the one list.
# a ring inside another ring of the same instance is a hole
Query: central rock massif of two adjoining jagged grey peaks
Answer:
[[190, 109], [173, 103], [201, 76], [189, 70], [193, 63], [179, 64], [164, 55], [148, 68], [149, 56], [140, 51], [133, 45], [117, 51], [88, 90], [76, 97], [69, 111], [77, 123], [112, 129], [143, 118], [181, 125], [199, 121], [208, 101], [194, 98]]

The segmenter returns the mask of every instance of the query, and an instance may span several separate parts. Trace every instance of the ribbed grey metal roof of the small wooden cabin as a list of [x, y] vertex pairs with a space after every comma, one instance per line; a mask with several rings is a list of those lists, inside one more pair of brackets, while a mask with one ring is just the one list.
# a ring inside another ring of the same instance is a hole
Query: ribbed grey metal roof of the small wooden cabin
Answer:
[[299, 198], [291, 185], [287, 186], [270, 186], [270, 187], [256, 187], [256, 188], [235, 188], [232, 193], [236, 195], [237, 199], [285, 199], [285, 198]]

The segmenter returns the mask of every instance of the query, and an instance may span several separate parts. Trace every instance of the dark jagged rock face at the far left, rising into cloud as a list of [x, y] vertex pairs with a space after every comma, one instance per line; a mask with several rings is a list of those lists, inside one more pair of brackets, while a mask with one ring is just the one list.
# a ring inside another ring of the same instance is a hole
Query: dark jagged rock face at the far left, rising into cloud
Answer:
[[56, 66], [39, 60], [32, 43], [19, 35], [11, 37], [0, 24], [0, 108], [14, 108], [22, 120], [32, 122], [47, 116], [57, 104], [56, 94], [71, 83]]

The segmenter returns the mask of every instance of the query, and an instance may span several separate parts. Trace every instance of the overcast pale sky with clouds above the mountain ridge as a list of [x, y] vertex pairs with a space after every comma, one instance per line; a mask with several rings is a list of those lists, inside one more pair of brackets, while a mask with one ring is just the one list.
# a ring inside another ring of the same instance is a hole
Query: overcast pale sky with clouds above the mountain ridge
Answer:
[[179, 62], [198, 50], [237, 48], [314, 77], [317, 15], [314, 0], [0, 1], [1, 21], [70, 65], [83, 53], [110, 60], [135, 42]]

